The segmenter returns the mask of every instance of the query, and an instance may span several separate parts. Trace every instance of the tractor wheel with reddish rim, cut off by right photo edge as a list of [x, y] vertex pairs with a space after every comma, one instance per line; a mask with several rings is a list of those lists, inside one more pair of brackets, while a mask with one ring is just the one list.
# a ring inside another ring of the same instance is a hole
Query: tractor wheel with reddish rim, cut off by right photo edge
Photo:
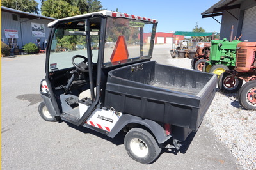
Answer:
[[246, 82], [239, 91], [239, 103], [247, 110], [256, 110], [256, 80]]

